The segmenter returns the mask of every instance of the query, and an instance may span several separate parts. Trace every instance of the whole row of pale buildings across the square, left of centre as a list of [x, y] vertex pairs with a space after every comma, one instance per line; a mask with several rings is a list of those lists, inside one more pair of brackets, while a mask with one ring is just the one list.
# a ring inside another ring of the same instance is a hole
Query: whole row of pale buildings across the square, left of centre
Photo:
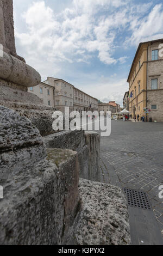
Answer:
[[36, 87], [29, 88], [29, 92], [36, 94], [45, 105], [55, 106], [58, 111], [65, 112], [65, 106], [71, 111], [98, 111], [98, 100], [74, 87], [72, 84], [58, 78], [47, 77]]

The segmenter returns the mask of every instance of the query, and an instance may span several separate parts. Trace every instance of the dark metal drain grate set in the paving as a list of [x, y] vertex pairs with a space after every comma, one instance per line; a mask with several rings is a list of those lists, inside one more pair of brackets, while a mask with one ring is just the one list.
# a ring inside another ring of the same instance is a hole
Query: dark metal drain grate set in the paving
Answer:
[[129, 206], [145, 210], [152, 210], [147, 194], [145, 192], [131, 190], [130, 188], [127, 187], [124, 187], [123, 191], [126, 194]]

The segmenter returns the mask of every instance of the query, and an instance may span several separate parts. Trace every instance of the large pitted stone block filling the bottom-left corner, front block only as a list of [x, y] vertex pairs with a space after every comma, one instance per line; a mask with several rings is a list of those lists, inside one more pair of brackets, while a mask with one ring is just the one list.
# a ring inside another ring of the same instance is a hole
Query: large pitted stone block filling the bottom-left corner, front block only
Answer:
[[48, 149], [46, 160], [29, 164], [1, 185], [1, 245], [66, 243], [80, 209], [76, 152]]

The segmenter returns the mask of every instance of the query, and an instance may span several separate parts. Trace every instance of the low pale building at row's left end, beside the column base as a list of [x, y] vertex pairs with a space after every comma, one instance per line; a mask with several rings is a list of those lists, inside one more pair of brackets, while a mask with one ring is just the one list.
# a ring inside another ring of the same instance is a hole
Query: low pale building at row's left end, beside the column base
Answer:
[[43, 100], [46, 106], [54, 107], [54, 87], [40, 82], [35, 87], [28, 88], [29, 93], [33, 93]]

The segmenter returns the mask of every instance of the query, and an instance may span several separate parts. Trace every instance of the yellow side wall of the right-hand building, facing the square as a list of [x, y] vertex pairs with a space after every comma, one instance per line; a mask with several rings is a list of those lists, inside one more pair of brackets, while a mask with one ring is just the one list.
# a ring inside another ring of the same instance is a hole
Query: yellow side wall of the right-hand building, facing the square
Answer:
[[145, 116], [147, 105], [147, 52], [148, 43], [140, 44], [137, 48], [127, 82], [129, 83], [129, 111], [132, 118], [135, 114]]

